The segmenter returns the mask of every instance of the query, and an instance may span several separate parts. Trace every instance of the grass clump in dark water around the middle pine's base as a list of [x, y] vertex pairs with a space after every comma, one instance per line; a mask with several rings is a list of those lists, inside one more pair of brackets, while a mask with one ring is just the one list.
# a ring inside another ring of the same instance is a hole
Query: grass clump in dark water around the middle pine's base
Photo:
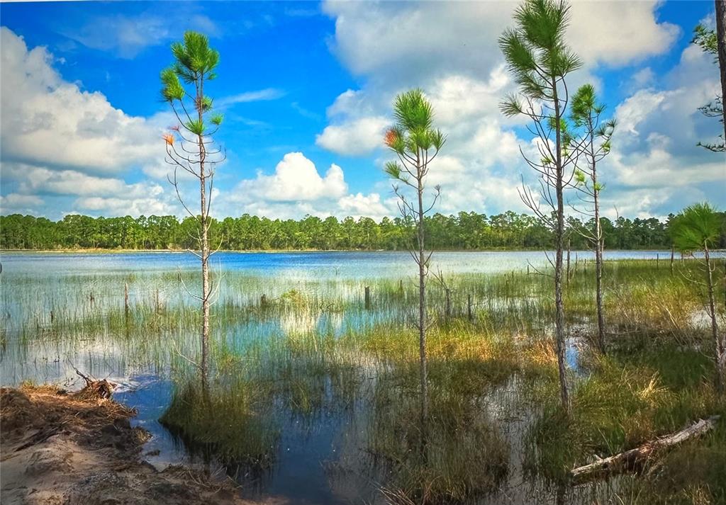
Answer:
[[430, 363], [435, 387], [425, 427], [415, 363], [388, 369], [376, 381], [367, 450], [396, 503], [461, 503], [491, 492], [507, 475], [507, 441], [484, 398], [496, 384], [488, 378], [501, 380], [510, 372], [474, 361]]

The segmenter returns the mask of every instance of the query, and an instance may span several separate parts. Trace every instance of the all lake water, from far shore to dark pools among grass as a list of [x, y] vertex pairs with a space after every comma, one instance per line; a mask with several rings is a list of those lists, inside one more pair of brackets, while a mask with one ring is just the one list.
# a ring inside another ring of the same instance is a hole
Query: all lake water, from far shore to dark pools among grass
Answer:
[[[606, 252], [605, 258], [654, 259], [669, 255], [669, 251], [622, 251]], [[590, 252], [572, 252], [573, 262], [575, 257], [592, 260]], [[250, 341], [264, 341], [273, 335], [339, 336], [386, 321], [404, 321], [415, 305], [415, 297], [408, 292], [413, 292], [416, 270], [407, 252], [219, 252], [213, 258], [216, 278], [221, 279], [215, 310], [229, 310], [229, 320], [225, 319], [215, 337], [233, 353]], [[106, 316], [123, 313], [125, 284], [129, 286], [132, 313], [141, 307], [151, 313], [173, 308], [195, 310], [195, 302], [177, 279], [187, 279], [185, 284], [194, 290], [198, 260], [193, 255], [4, 253], [0, 260], [2, 385], [17, 385], [29, 379], [72, 386], [78, 383], [77, 367], [121, 385], [115, 397], [136, 407], [139, 415], [134, 422], [153, 435], [145, 448], [151, 453], [147, 459], [152, 464], [207, 465], [212, 471], [227, 472], [244, 486], [246, 496], [256, 498], [277, 496], [294, 499], [295, 503], [331, 505], [380, 500], [377, 489], [383, 476], [367, 467], [364, 457], [365, 427], [370, 423], [370, 411], [365, 405], [354, 403], [340, 410], [324, 403], [320, 411], [307, 418], [289, 408], [278, 408], [274, 417], [280, 440], [274, 465], [254, 475], [245, 473], [248, 470], [242, 467], [221, 468], [214, 459], [190, 452], [158, 422], [174, 391], [169, 375], [174, 358], [170, 346], [194, 353], [195, 321], [180, 321], [174, 329], [160, 327], [155, 334], [124, 335]], [[432, 270], [444, 275], [486, 275], [526, 271], [528, 265], [542, 268], [546, 264], [542, 252], [438, 252], [433, 256]], [[390, 293], [379, 297], [374, 291], [373, 306], [366, 310], [362, 302], [364, 287], [380, 282], [388, 282], [392, 292], [402, 282], [404, 298], [395, 302]], [[305, 298], [304, 310], [295, 305], [260, 310], [262, 295], [267, 300], [282, 300], [291, 290]], [[488, 303], [491, 307], [492, 301]], [[250, 310], [240, 312], [240, 308]], [[100, 322], [83, 322], [94, 318]], [[60, 319], [76, 323], [59, 329]], [[572, 368], [577, 366], [575, 344], [571, 342], [567, 352]], [[523, 475], [522, 434], [533, 410], [521, 409], [516, 391], [515, 382], [510, 381], [490, 393], [490, 414], [510, 448], [510, 472], [497, 493], [477, 503], [560, 503], [562, 496], [557, 490], [549, 490], [544, 483]], [[579, 491], [582, 496], [569, 494], [566, 501], [585, 503], [585, 497], [595, 491], [587, 488]]]

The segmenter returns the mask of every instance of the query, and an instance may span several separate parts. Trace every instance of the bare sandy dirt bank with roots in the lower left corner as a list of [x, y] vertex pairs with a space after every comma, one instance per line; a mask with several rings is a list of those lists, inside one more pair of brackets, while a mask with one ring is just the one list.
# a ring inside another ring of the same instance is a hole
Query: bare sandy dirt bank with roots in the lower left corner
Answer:
[[144, 462], [134, 411], [86, 387], [0, 389], [3, 505], [242, 505], [231, 482]]

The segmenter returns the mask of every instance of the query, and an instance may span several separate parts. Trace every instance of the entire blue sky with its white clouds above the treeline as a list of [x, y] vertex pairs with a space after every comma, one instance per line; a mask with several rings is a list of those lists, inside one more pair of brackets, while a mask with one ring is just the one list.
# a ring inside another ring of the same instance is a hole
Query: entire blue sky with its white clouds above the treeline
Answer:
[[[531, 174], [497, 37], [511, 2], [111, 2], [1, 4], [2, 213], [150, 215], [182, 210], [166, 181], [159, 99], [169, 44], [200, 30], [219, 49], [208, 88], [225, 114], [213, 213], [396, 213], [381, 166], [395, 94], [420, 86], [449, 143], [431, 168], [439, 210], [524, 210]], [[690, 44], [710, 1], [574, 2], [568, 39], [619, 120], [603, 164], [605, 213], [725, 207], [726, 159], [696, 147], [719, 124], [697, 107], [717, 67]], [[420, 34], [425, 33], [424, 40]], [[189, 181], [188, 198], [193, 198]]]

